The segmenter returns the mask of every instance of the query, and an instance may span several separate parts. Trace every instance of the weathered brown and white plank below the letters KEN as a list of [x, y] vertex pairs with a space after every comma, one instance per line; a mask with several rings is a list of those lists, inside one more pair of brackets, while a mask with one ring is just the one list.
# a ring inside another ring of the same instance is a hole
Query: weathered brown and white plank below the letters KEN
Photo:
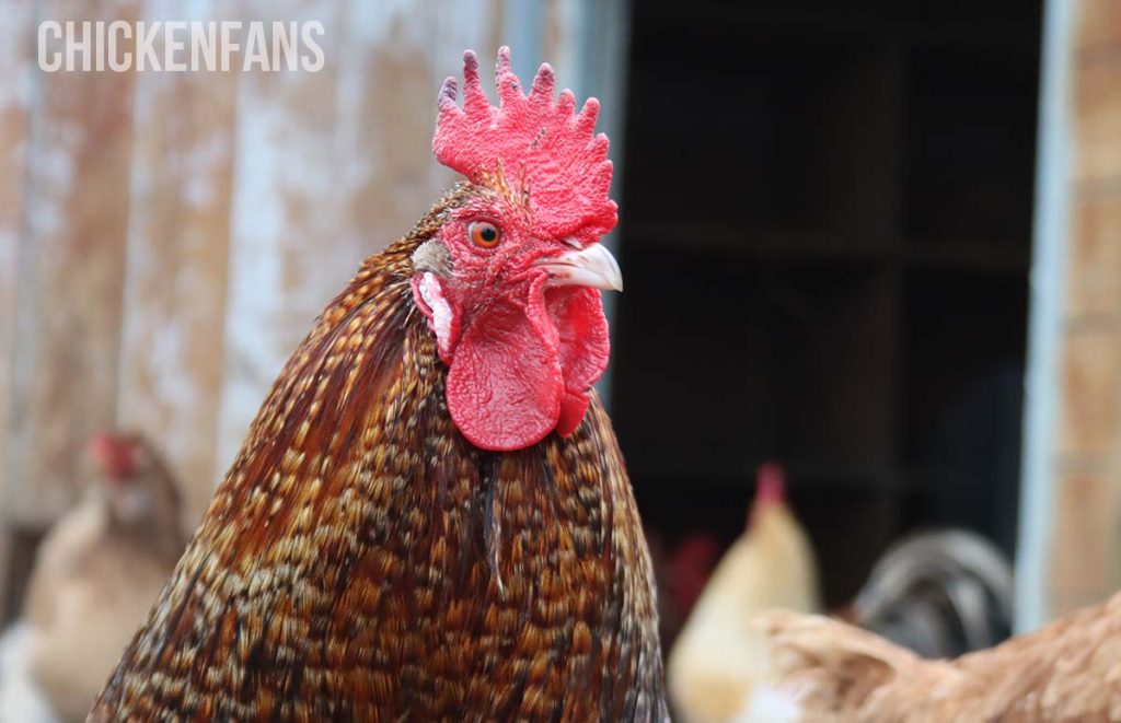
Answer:
[[[143, 19], [228, 6], [149, 0]], [[137, 76], [119, 421], [161, 449], [193, 527], [214, 485], [239, 74]]]

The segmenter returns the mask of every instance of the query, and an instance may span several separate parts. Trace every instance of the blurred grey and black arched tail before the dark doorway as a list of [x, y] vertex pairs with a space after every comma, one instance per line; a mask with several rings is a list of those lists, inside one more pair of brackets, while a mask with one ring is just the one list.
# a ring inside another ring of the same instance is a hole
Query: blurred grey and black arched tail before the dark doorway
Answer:
[[1004, 640], [1012, 595], [1012, 569], [995, 545], [934, 530], [889, 548], [843, 617], [923, 657], [948, 658]]

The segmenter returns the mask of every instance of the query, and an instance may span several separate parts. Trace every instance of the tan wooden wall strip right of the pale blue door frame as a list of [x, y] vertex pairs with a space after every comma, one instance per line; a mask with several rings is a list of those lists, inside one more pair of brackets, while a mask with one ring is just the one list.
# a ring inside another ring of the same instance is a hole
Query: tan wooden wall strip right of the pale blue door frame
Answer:
[[1121, 1], [1081, 0], [1051, 612], [1121, 588]]

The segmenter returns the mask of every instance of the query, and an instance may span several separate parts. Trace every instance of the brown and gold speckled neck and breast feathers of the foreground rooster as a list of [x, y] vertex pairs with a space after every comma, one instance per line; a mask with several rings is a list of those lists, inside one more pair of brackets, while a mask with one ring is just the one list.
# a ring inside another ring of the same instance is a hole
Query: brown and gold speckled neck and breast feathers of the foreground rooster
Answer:
[[410, 255], [317, 320], [91, 721], [667, 720], [651, 567], [599, 400], [568, 439], [453, 426]]

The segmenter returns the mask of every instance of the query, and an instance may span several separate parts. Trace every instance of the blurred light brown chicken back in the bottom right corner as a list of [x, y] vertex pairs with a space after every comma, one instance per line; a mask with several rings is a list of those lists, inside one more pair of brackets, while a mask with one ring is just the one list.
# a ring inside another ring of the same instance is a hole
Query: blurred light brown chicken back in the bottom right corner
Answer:
[[770, 712], [749, 707], [743, 723], [1121, 720], [1121, 595], [954, 660], [817, 616], [772, 611], [754, 625], [772, 664], [757, 698]]

